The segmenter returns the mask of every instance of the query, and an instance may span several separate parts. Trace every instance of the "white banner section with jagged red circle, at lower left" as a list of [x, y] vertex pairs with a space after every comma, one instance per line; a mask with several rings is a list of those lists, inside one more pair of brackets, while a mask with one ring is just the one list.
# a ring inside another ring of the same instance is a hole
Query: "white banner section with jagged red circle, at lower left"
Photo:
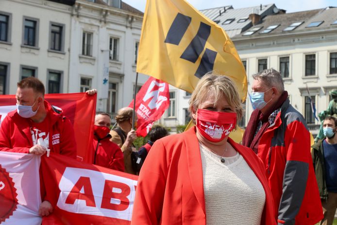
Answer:
[[40, 157], [0, 152], [0, 225], [40, 225]]

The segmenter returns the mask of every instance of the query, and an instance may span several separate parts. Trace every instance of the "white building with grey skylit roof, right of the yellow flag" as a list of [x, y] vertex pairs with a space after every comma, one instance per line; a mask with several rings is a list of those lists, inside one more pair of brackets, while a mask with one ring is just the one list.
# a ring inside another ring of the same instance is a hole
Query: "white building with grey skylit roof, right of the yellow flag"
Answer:
[[[284, 77], [290, 103], [303, 114], [310, 131], [318, 132], [309, 94], [317, 112], [337, 88], [337, 8], [325, 8], [263, 18], [246, 32], [232, 38], [248, 75], [274, 68]], [[249, 101], [247, 101], [249, 102]], [[252, 113], [246, 104], [246, 124]]]

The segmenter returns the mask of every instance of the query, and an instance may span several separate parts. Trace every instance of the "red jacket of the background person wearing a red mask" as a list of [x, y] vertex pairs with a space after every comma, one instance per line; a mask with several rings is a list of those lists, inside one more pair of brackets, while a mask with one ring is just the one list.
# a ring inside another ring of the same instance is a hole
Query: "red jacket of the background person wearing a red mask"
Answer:
[[124, 156], [122, 150], [114, 142], [110, 141], [111, 135], [98, 139], [94, 135], [93, 146], [95, 150], [95, 165], [124, 172]]

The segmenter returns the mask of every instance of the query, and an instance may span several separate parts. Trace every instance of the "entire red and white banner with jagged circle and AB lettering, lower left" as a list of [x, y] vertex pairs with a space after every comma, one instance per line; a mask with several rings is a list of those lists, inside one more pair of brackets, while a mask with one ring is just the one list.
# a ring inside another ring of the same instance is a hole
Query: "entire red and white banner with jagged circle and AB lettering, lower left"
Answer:
[[[0, 225], [130, 225], [136, 185], [136, 175], [55, 153], [0, 152]], [[43, 218], [40, 187], [53, 207]]]

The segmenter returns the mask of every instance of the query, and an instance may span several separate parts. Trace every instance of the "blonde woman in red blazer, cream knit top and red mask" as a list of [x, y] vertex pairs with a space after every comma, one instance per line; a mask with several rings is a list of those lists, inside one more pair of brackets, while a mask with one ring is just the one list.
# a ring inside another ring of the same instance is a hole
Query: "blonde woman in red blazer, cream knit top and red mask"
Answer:
[[195, 127], [152, 146], [139, 174], [131, 224], [276, 224], [262, 162], [228, 138], [243, 114], [233, 81], [203, 76], [189, 111]]

